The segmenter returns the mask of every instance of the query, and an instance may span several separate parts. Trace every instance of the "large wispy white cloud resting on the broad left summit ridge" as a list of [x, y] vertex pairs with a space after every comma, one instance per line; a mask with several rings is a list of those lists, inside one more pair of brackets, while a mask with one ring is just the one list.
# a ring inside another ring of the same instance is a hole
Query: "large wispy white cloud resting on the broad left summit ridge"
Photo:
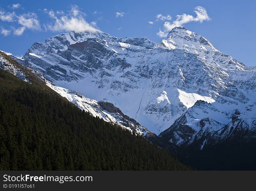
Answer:
[[89, 24], [85, 19], [85, 13], [81, 12], [78, 6], [72, 6], [68, 14], [63, 16], [56, 16], [54, 11], [48, 12], [49, 16], [54, 20], [54, 23], [48, 24], [47, 28], [51, 31], [76, 31], [84, 32], [98, 31], [96, 27], [96, 22]]

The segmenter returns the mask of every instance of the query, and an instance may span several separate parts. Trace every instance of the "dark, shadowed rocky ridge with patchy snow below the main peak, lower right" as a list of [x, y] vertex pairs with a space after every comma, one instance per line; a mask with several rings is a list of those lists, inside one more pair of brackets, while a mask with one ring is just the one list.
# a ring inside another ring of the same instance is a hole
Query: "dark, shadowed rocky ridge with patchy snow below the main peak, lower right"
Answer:
[[241, 112], [235, 109], [229, 114], [218, 110], [215, 103], [197, 101], [159, 136], [166, 142], [181, 147], [194, 144], [201, 150], [206, 145], [224, 140], [233, 142], [256, 140], [255, 104], [250, 106], [250, 110], [248, 107], [241, 109]]

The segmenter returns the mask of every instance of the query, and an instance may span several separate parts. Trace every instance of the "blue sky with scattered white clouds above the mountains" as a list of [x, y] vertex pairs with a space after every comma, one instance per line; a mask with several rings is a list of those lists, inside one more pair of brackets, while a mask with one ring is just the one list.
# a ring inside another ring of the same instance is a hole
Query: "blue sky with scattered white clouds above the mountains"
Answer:
[[22, 56], [34, 42], [83, 28], [159, 43], [171, 27], [182, 25], [255, 66], [255, 8], [255, 0], [0, 1], [0, 50]]

